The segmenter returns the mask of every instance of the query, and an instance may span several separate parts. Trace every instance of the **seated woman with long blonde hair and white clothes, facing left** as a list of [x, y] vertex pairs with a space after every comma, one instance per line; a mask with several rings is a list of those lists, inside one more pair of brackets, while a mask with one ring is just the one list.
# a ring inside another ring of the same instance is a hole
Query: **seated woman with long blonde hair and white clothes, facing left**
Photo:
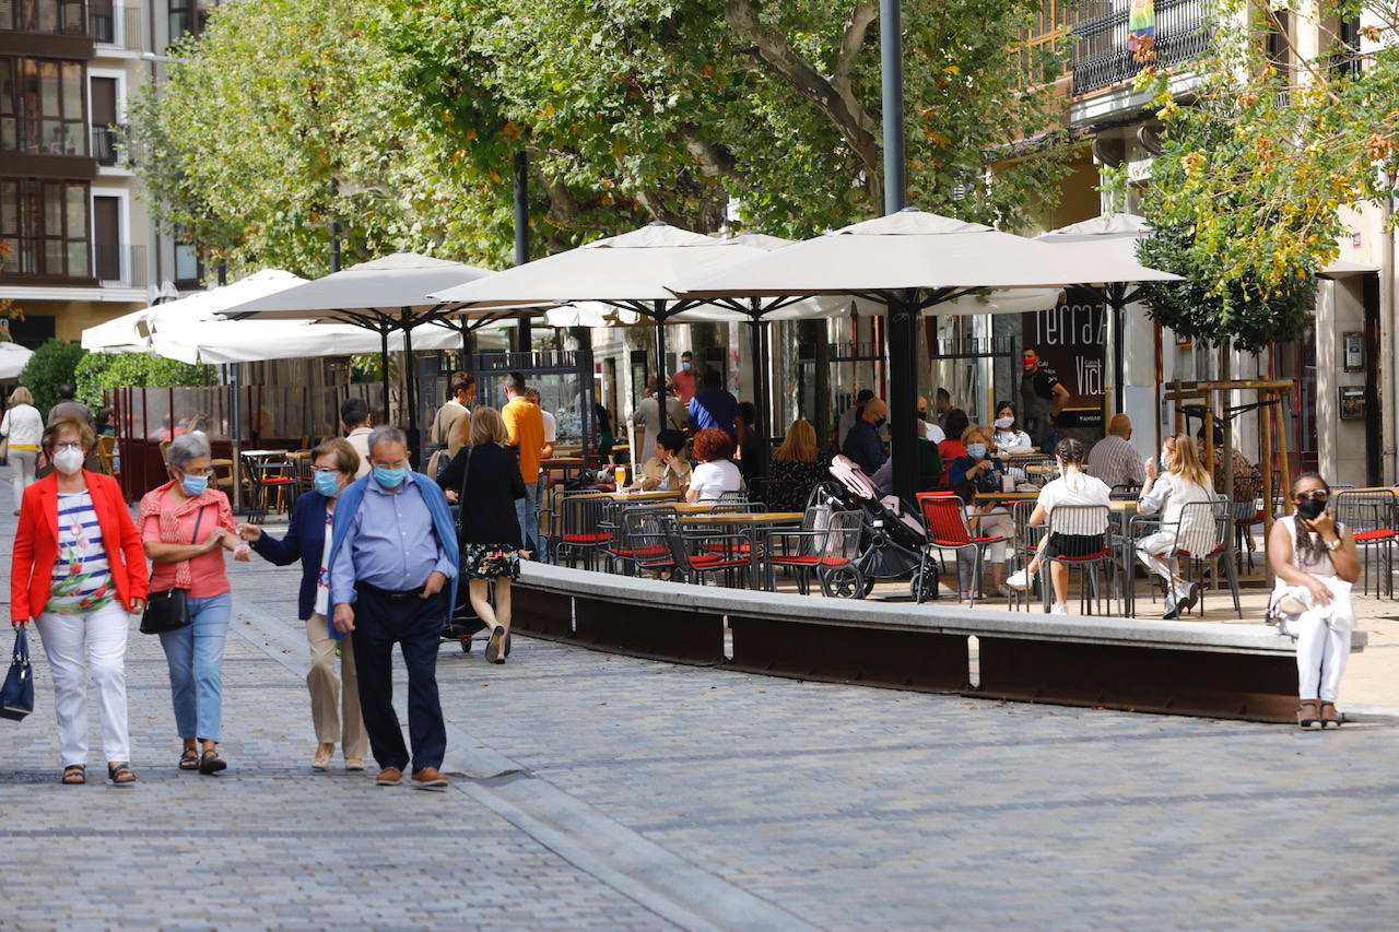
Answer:
[[1160, 460], [1149, 459], [1143, 466], [1146, 484], [1142, 486], [1137, 514], [1160, 512], [1161, 529], [1137, 542], [1137, 558], [1165, 585], [1165, 613], [1161, 617], [1175, 619], [1189, 612], [1200, 596], [1200, 584], [1188, 584], [1181, 577], [1177, 554], [1192, 551], [1199, 556], [1214, 546], [1212, 512], [1206, 508], [1186, 511], [1185, 507], [1214, 501], [1214, 484], [1188, 434], [1167, 437]]

